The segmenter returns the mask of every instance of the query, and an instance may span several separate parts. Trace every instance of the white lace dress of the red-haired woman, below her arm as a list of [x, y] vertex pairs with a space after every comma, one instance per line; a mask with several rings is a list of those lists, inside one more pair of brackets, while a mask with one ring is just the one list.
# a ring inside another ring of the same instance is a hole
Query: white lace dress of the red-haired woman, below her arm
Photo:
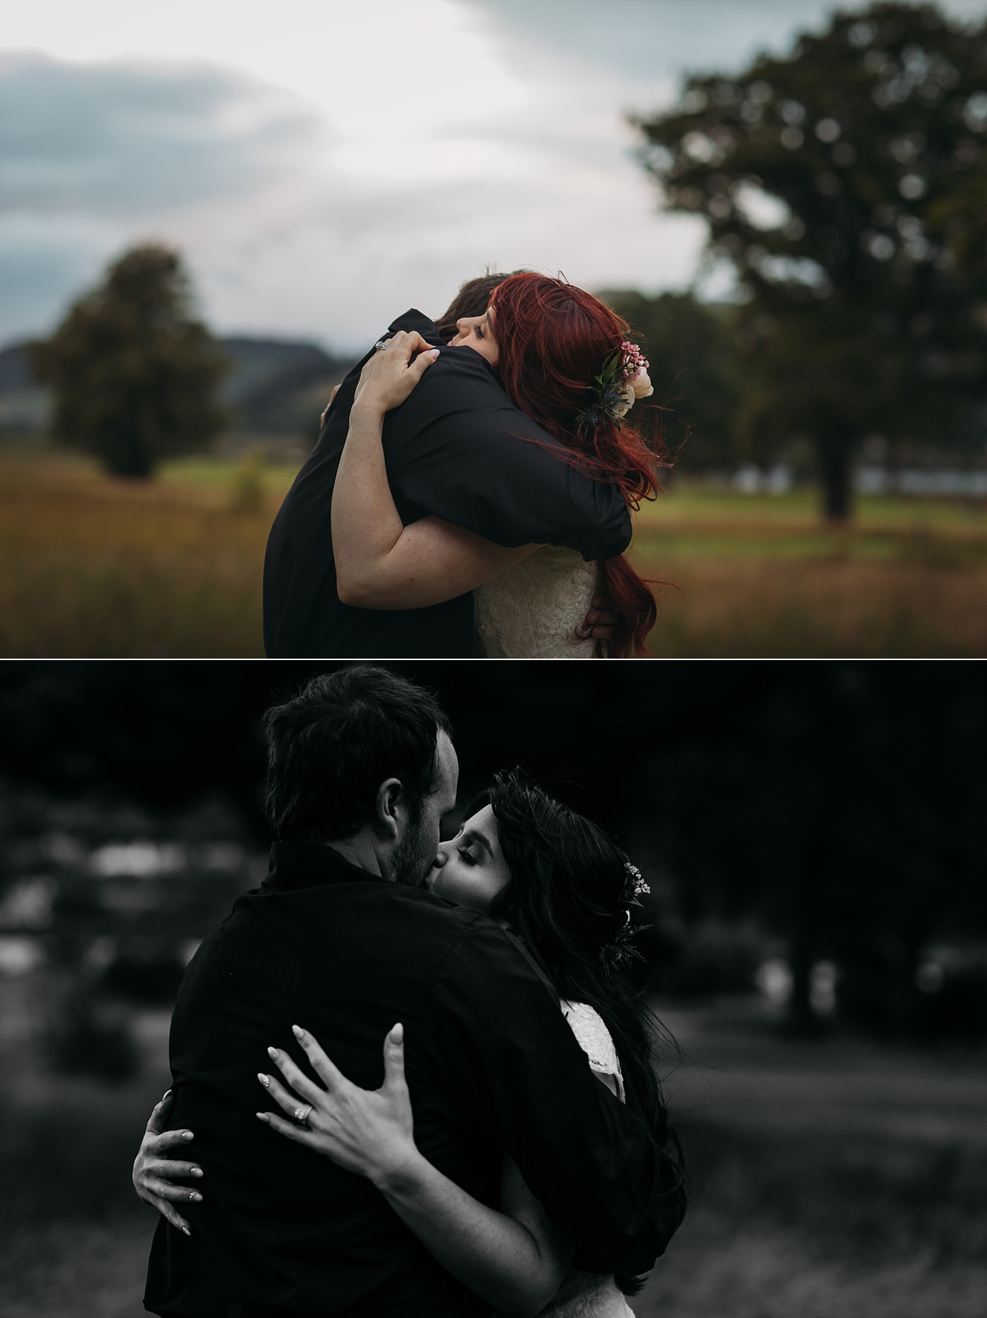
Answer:
[[597, 565], [547, 544], [473, 592], [488, 659], [593, 659], [576, 627], [597, 593]]

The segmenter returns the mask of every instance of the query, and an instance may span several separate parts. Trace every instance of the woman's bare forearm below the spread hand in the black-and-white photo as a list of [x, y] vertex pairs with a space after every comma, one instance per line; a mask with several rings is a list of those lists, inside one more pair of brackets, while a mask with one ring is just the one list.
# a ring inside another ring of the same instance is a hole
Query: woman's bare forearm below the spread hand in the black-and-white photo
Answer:
[[420, 1153], [374, 1184], [445, 1271], [501, 1313], [536, 1314], [559, 1289], [572, 1251], [536, 1201], [531, 1230], [524, 1213], [480, 1203]]

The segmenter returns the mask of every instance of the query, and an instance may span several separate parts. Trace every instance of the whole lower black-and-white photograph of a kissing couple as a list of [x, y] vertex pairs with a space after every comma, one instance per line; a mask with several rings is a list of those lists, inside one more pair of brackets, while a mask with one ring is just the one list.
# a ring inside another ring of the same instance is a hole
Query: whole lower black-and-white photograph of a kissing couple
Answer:
[[0, 722], [4, 1314], [982, 1313], [978, 664], [12, 663]]

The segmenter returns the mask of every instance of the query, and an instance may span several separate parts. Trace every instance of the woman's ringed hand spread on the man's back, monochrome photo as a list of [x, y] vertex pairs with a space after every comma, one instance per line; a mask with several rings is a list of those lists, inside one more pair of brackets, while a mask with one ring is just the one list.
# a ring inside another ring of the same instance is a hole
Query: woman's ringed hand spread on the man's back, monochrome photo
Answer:
[[[369, 1177], [378, 1188], [399, 1178], [419, 1157], [405, 1081], [403, 1025], [394, 1025], [383, 1040], [383, 1085], [377, 1090], [351, 1083], [310, 1033], [299, 1025], [291, 1028], [325, 1089], [303, 1075], [281, 1049], [269, 1048], [269, 1057], [290, 1089], [273, 1075], [261, 1073], [257, 1078], [294, 1120], [274, 1112], [258, 1112], [258, 1120], [324, 1153], [344, 1170]], [[304, 1107], [311, 1111], [303, 1112], [304, 1123], [299, 1124], [296, 1114]]]

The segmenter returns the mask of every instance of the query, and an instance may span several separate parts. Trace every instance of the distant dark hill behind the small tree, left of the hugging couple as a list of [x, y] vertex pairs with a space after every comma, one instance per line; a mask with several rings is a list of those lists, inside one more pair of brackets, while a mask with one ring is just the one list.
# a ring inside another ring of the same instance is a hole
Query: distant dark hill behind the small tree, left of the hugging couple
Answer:
[[[219, 341], [233, 361], [221, 397], [236, 415], [235, 430], [314, 440], [332, 386], [353, 358], [286, 339], [235, 335]], [[43, 430], [50, 401], [50, 390], [32, 380], [24, 344], [0, 351], [0, 431]]]

